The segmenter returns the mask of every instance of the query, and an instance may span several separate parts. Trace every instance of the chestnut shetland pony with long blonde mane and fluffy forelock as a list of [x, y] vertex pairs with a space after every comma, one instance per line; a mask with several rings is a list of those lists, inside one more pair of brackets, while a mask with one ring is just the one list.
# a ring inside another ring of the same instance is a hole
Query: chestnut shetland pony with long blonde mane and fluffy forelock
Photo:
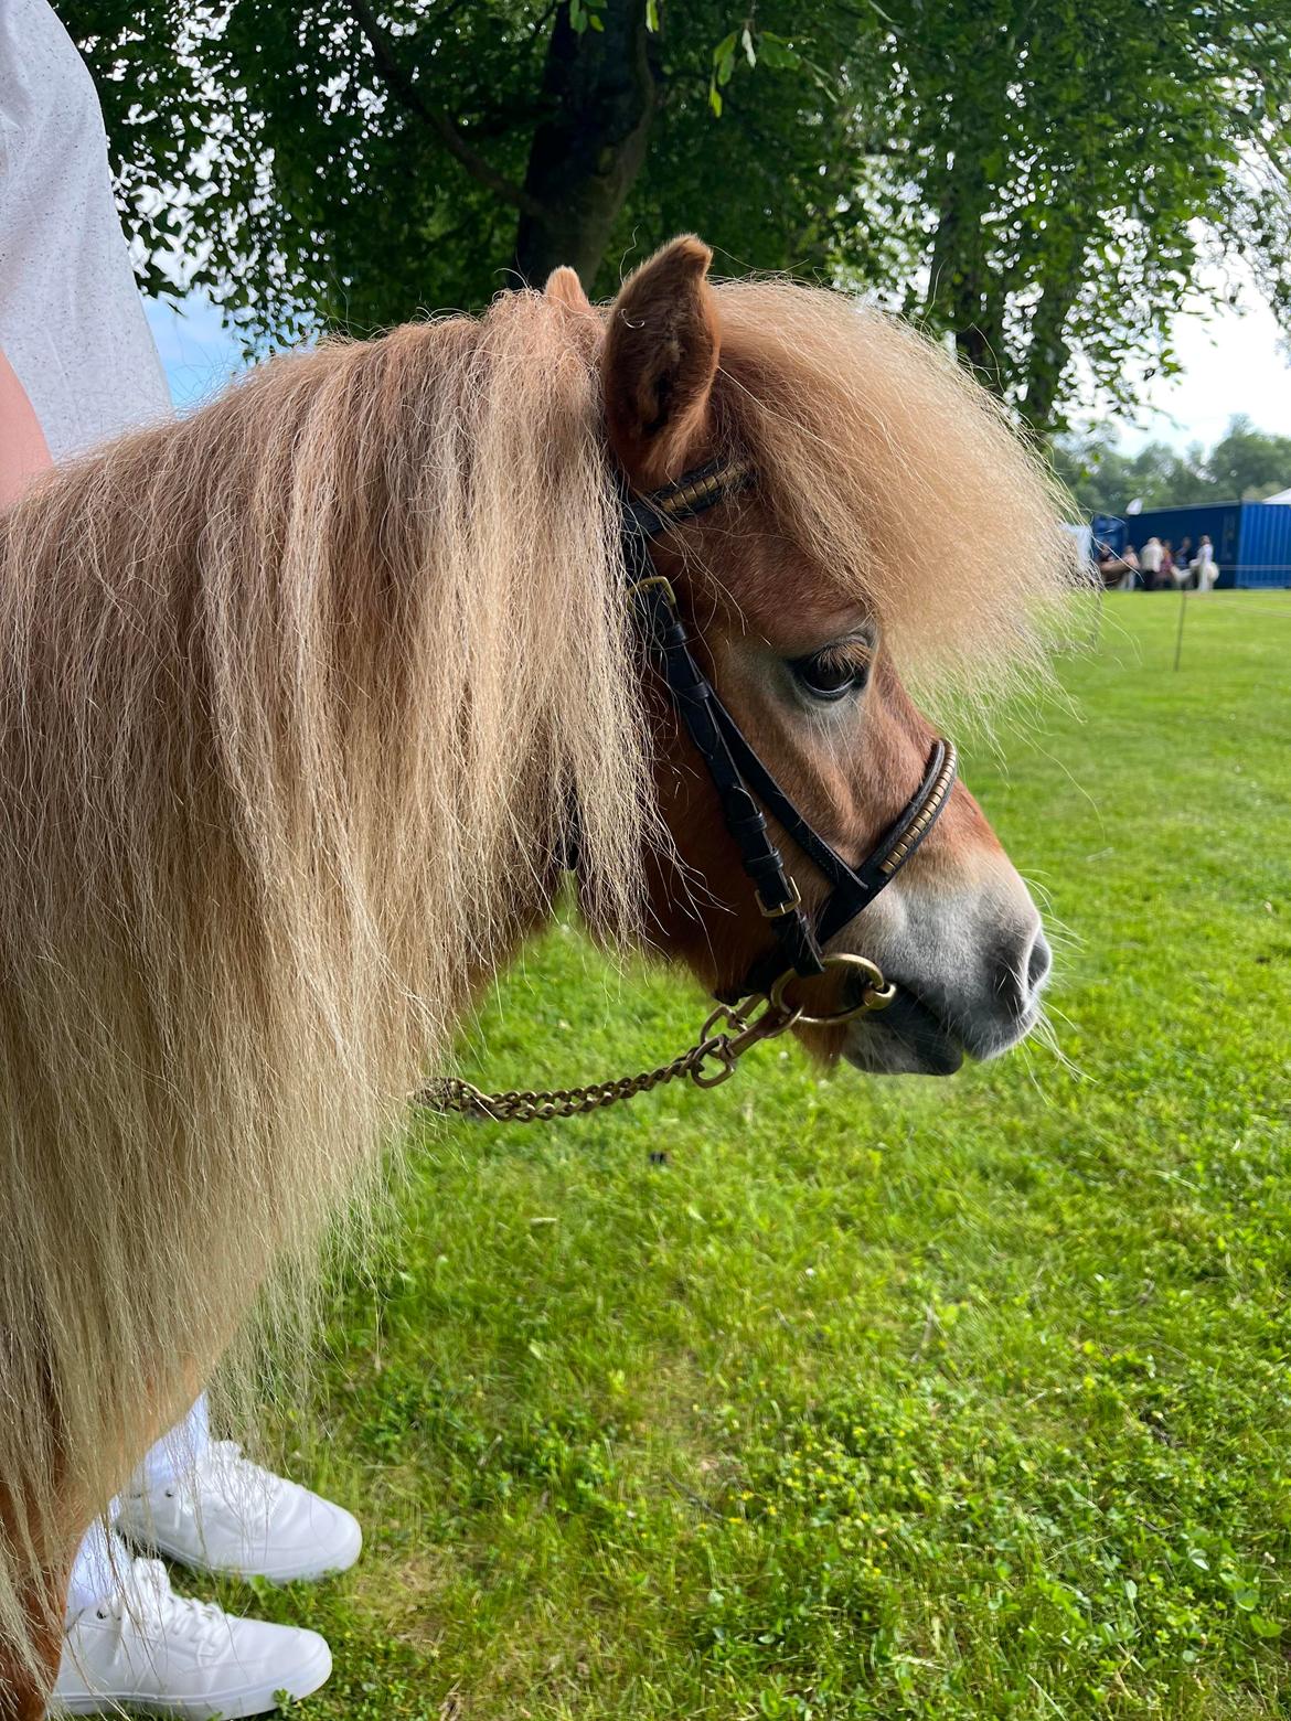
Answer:
[[[0, 518], [5, 1718], [41, 1712], [86, 1521], [267, 1287], [308, 1280], [549, 916], [571, 809], [601, 936], [709, 986], [766, 947], [632, 637], [623, 482], [751, 463], [659, 564], [845, 854], [921, 774], [902, 676], [1040, 659], [1071, 564], [1002, 415], [897, 324], [707, 263], [678, 239], [608, 310], [559, 270], [274, 360]], [[962, 786], [837, 947], [902, 988], [818, 1038], [866, 1069], [1002, 1050], [1048, 960]]]

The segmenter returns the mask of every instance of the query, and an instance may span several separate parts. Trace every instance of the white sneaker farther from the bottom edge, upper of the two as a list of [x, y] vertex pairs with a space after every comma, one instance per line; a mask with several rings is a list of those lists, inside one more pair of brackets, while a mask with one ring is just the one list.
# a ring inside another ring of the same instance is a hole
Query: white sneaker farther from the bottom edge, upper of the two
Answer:
[[198, 1453], [177, 1482], [124, 1494], [117, 1528], [196, 1571], [272, 1583], [344, 1571], [363, 1545], [344, 1508], [253, 1465], [234, 1440]]

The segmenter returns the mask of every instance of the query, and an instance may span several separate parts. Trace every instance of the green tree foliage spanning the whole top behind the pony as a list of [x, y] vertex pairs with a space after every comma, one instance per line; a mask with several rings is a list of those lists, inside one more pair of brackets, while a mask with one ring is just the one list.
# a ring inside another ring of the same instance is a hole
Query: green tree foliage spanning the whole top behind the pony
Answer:
[[[1291, 0], [64, 15], [146, 284], [208, 291], [251, 344], [477, 306], [547, 217], [534, 256], [563, 246], [601, 293], [687, 227], [735, 270], [859, 284], [952, 334], [1045, 434], [1081, 375], [1107, 398], [1176, 368], [1172, 317], [1224, 296], [1201, 284], [1215, 250], [1291, 324]], [[556, 89], [584, 107], [553, 165]]]

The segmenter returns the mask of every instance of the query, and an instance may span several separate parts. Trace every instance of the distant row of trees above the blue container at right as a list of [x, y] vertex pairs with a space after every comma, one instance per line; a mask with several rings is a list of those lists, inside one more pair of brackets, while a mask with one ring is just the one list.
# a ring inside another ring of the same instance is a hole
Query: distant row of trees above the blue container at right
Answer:
[[1114, 439], [1095, 432], [1060, 437], [1053, 465], [1090, 513], [1124, 515], [1134, 497], [1145, 508], [1260, 501], [1291, 485], [1291, 437], [1257, 430], [1238, 415], [1208, 454], [1200, 444], [1181, 454], [1165, 442], [1122, 454]]

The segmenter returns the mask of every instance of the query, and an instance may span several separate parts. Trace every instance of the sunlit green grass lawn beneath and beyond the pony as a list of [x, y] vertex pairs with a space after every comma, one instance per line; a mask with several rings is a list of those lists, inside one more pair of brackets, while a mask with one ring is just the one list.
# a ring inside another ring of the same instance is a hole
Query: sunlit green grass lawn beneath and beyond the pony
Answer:
[[[327, 1632], [310, 1716], [1291, 1709], [1291, 599], [1193, 601], [1179, 673], [1176, 620], [1110, 597], [1076, 709], [967, 764], [1069, 1064], [764, 1046], [427, 1132], [296, 1461], [363, 1561], [227, 1592]], [[701, 1015], [559, 928], [472, 1069], [639, 1069]]]

